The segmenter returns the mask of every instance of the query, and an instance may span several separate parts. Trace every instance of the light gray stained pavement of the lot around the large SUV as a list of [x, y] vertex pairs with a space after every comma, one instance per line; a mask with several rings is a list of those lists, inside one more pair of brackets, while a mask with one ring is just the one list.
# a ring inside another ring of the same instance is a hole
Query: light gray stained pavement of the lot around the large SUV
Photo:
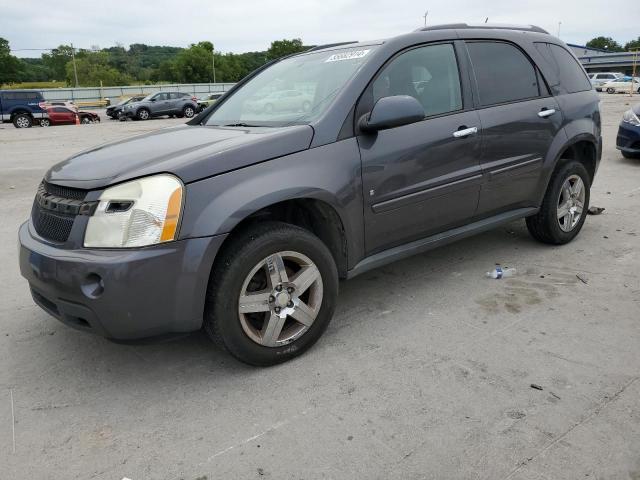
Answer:
[[[605, 211], [574, 242], [515, 222], [342, 283], [324, 337], [267, 369], [199, 333], [76, 332], [20, 277], [49, 166], [179, 120], [1, 125], [0, 477], [640, 479], [640, 160], [615, 149], [640, 100], [601, 99]], [[518, 275], [485, 279], [497, 262]]]

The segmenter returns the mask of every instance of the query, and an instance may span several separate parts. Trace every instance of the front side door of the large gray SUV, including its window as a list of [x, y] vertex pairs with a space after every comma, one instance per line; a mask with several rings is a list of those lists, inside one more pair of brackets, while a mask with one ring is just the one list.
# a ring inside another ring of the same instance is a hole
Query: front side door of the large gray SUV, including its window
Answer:
[[413, 96], [425, 110], [423, 121], [358, 134], [368, 254], [467, 223], [475, 212], [479, 121], [458, 53], [444, 42], [397, 54], [358, 104], [356, 118], [393, 95]]

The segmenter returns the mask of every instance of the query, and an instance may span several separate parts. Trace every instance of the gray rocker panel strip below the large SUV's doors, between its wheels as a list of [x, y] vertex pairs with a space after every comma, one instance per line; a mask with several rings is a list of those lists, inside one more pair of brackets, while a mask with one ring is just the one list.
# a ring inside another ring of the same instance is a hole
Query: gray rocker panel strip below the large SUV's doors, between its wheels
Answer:
[[503, 225], [505, 223], [512, 222], [519, 218], [528, 217], [538, 212], [535, 207], [531, 208], [519, 208], [517, 210], [510, 210], [499, 215], [478, 220], [477, 222], [464, 225], [462, 227], [447, 230], [446, 232], [437, 233], [430, 237], [421, 238], [405, 245], [389, 248], [370, 257], [366, 257], [353, 269], [347, 272], [347, 278], [353, 278], [361, 273], [368, 272], [374, 268], [382, 267], [391, 262], [401, 260], [403, 258], [423, 253], [441, 245], [455, 242], [466, 237], [470, 237], [477, 233], [486, 232], [487, 230], [493, 230], [494, 228]]

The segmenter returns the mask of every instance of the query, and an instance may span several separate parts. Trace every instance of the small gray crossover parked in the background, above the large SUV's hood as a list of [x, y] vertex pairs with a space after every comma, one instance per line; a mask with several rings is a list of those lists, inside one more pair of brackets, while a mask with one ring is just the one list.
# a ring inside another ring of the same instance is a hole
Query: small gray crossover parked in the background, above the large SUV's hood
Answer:
[[128, 103], [124, 106], [122, 115], [137, 120], [148, 120], [163, 115], [191, 118], [197, 111], [196, 97], [181, 92], [160, 92], [147, 95], [139, 102]]

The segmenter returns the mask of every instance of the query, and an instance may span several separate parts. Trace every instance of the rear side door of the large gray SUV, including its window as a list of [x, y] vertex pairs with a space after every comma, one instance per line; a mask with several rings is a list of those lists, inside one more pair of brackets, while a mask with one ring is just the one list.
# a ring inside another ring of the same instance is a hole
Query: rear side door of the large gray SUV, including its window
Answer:
[[482, 126], [477, 215], [535, 206], [544, 158], [562, 113], [538, 69], [516, 45], [466, 41]]

